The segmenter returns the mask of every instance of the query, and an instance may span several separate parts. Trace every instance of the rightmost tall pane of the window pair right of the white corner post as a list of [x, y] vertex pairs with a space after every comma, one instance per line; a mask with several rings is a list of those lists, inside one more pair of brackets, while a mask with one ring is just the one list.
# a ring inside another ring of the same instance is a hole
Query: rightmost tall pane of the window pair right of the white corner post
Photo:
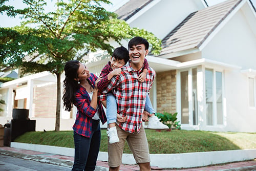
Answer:
[[223, 124], [222, 112], [222, 73], [216, 72], [217, 124]]

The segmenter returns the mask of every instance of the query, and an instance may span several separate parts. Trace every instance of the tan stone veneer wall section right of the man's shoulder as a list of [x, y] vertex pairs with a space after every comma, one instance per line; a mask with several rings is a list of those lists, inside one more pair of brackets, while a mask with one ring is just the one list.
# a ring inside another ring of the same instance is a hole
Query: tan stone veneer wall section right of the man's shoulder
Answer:
[[176, 111], [176, 70], [157, 73], [157, 112]]

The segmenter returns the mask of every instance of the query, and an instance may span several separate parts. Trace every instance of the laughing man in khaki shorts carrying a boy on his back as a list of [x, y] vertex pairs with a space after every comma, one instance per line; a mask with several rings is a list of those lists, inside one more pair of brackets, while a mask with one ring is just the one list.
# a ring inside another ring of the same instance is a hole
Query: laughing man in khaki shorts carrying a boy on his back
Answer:
[[109, 86], [103, 93], [113, 91], [117, 100], [117, 112], [122, 117], [127, 116], [125, 122], [117, 121], [119, 142], [108, 144], [110, 170], [119, 170], [122, 163], [122, 152], [125, 140], [133, 152], [140, 170], [151, 170], [150, 153], [146, 134], [142, 126], [146, 94], [151, 89], [155, 78], [155, 71], [148, 67], [143, 82], [138, 81], [142, 72], [145, 56], [148, 54], [148, 42], [142, 37], [134, 37], [129, 41], [130, 61], [123, 67], [120, 75], [110, 80]]

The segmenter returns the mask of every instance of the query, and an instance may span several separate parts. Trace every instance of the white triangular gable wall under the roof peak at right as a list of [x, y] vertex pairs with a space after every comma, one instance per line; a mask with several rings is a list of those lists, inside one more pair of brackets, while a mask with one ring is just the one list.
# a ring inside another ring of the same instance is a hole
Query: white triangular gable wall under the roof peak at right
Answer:
[[240, 10], [203, 48], [202, 58], [256, 69], [255, 47], [256, 36]]

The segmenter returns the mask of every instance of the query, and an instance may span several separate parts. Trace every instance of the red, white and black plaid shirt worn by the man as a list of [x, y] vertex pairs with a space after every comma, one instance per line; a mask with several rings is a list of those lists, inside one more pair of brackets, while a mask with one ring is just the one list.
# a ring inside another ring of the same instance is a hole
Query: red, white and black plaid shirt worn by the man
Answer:
[[134, 70], [130, 62], [127, 62], [123, 67], [120, 75], [110, 80], [103, 93], [113, 91], [117, 100], [117, 112], [122, 117], [127, 116], [127, 120], [124, 123], [117, 122], [117, 124], [124, 131], [135, 133], [136, 130], [140, 131], [146, 93], [151, 89], [156, 73], [151, 67], [148, 67], [145, 81], [139, 82], [138, 76], [142, 69], [139, 71]]

